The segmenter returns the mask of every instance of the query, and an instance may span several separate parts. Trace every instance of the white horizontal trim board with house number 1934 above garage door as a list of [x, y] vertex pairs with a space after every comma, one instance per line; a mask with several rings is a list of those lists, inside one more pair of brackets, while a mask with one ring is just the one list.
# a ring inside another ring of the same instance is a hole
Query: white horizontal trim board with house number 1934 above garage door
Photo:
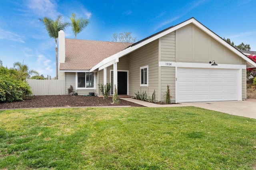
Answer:
[[240, 65], [240, 64], [218, 64], [217, 66], [212, 66], [212, 64], [209, 64], [209, 63], [181, 63], [181, 62], [166, 62], [166, 61], [159, 61], [158, 66], [188, 67], [188, 68], [246, 69], [246, 65]]

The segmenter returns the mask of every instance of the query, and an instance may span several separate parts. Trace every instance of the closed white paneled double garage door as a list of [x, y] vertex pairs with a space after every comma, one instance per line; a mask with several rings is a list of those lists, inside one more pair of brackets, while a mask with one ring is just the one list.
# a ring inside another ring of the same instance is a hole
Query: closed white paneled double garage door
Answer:
[[176, 102], [238, 100], [238, 69], [177, 70]]

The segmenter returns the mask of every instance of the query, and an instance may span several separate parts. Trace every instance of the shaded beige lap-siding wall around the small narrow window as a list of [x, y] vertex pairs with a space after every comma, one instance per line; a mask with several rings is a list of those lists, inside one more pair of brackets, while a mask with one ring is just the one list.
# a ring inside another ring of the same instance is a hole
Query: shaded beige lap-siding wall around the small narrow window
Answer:
[[[158, 100], [158, 40], [129, 54], [129, 94], [146, 91], [152, 96], [156, 91]], [[140, 87], [140, 67], [148, 65], [148, 87]]]

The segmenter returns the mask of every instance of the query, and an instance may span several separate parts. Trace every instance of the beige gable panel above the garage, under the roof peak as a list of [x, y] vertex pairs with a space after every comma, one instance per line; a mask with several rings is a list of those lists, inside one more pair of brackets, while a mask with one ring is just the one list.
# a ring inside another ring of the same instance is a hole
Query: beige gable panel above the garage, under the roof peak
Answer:
[[242, 59], [193, 24], [176, 30], [176, 62], [241, 64]]

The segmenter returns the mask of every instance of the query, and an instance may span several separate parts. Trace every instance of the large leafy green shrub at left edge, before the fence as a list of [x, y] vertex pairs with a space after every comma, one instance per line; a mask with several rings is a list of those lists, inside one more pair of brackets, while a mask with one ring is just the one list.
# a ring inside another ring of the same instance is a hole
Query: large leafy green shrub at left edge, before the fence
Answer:
[[16, 70], [0, 67], [0, 102], [22, 101], [31, 94], [30, 86], [18, 78]]

